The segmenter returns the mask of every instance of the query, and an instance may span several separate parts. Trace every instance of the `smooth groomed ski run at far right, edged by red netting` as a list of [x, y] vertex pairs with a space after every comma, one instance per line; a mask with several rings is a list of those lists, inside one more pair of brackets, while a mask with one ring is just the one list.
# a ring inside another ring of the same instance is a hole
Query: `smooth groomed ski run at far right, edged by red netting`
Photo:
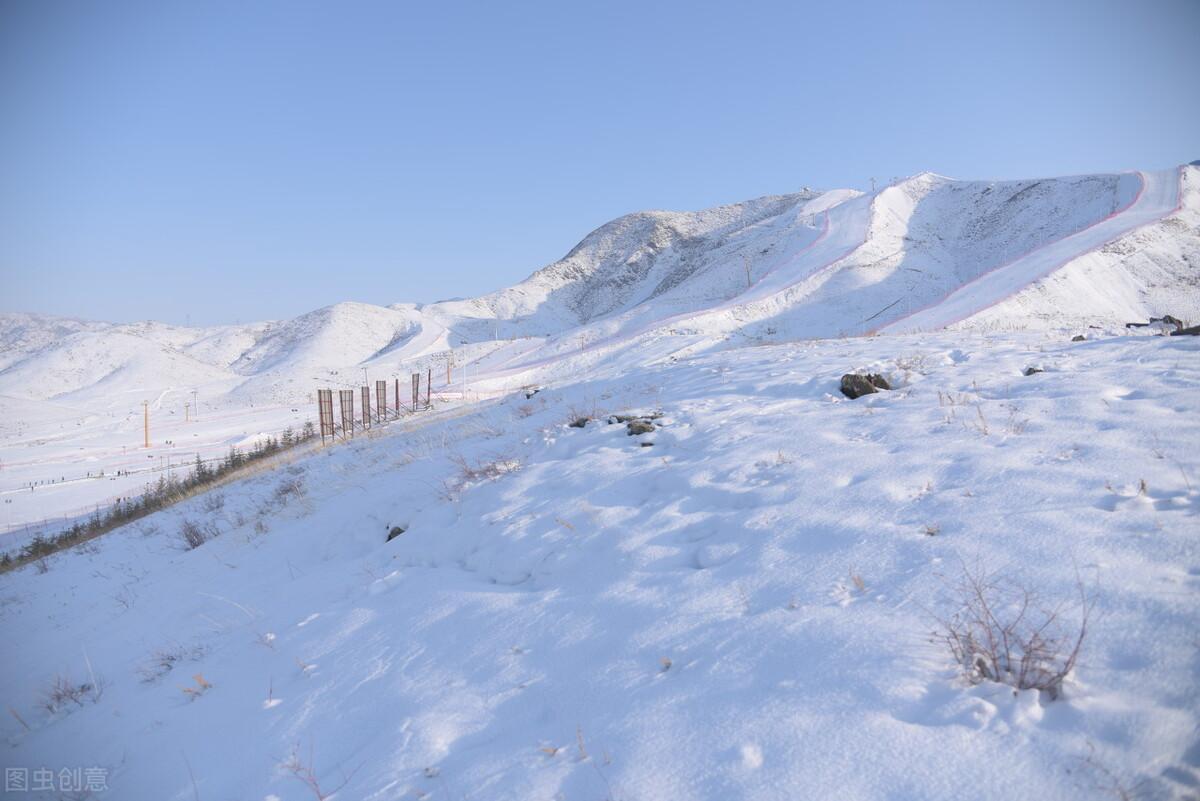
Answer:
[[877, 327], [872, 333], [935, 331], [1015, 295], [1030, 284], [1096, 248], [1175, 212], [1180, 206], [1182, 169], [1138, 173], [1142, 186], [1133, 201], [1100, 222], [1050, 242], [985, 272], [932, 306]]

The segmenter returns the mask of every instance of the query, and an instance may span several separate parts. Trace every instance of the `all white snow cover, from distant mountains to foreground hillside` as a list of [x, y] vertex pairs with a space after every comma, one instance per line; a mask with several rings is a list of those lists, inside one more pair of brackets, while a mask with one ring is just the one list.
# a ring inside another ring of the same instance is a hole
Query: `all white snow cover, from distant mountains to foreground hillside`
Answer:
[[[1195, 165], [926, 173], [629, 215], [476, 299], [0, 314], [0, 552], [318, 387], [434, 378], [431, 412], [0, 574], [0, 763], [155, 800], [308, 769], [342, 801], [1195, 797], [1200, 345], [1124, 323], [1200, 323], [1198, 260]], [[847, 401], [856, 371], [895, 389]], [[631, 410], [661, 427], [602, 420]], [[1063, 698], [930, 642], [964, 564], [1067, 614], [1082, 580]], [[102, 693], [48, 711], [56, 676]]]

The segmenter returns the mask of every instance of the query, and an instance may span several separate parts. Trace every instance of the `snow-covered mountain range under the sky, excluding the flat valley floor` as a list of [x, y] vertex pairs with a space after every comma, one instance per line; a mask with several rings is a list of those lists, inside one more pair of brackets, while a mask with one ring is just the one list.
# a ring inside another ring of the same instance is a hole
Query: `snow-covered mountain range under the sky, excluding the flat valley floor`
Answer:
[[504, 357], [511, 369], [679, 329], [810, 338], [1195, 319], [1198, 271], [1200, 168], [1001, 182], [925, 173], [874, 194], [628, 215], [526, 281], [469, 300], [337, 303], [216, 329], [5, 314], [0, 396], [210, 385], [287, 402], [314, 377], [398, 374], [498, 341], [523, 342], [520, 357]]

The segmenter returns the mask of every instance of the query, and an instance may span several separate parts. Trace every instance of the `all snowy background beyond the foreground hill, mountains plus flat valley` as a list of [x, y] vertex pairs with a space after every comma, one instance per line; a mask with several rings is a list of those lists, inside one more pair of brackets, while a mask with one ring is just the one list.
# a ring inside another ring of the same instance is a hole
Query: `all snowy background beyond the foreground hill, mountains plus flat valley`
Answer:
[[[524, 282], [472, 300], [337, 303], [212, 329], [0, 315], [0, 411], [10, 411], [0, 494], [11, 501], [0, 525], [80, 513], [154, 478], [121, 482], [116, 470], [209, 458], [302, 424], [318, 386], [431, 371], [452, 403], [728, 341], [942, 326], [1122, 331], [1165, 313], [1194, 323], [1198, 265], [1194, 165], [1003, 182], [925, 173], [870, 194], [805, 189], [628, 215]], [[52, 398], [58, 405], [28, 405]], [[157, 412], [149, 450], [142, 402]], [[196, 403], [199, 424], [185, 408]], [[86, 492], [12, 495], [101, 471], [108, 483]]]

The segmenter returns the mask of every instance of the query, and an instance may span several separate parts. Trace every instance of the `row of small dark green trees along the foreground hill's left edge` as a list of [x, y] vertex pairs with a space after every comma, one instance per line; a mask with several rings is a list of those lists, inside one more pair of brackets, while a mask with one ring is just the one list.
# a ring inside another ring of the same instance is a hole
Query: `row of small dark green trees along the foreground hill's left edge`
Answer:
[[121, 498], [107, 510], [96, 508], [85, 520], [79, 520], [70, 528], [54, 535], [38, 534], [20, 550], [0, 555], [0, 572], [28, 565], [59, 550], [86, 542], [115, 528], [145, 517], [161, 508], [191, 498], [204, 487], [221, 481], [229, 474], [268, 457], [275, 456], [317, 436], [317, 430], [308, 421], [296, 432], [287, 428], [278, 438], [268, 436], [254, 444], [248, 451], [230, 447], [220, 459], [204, 460], [196, 454], [196, 462], [186, 475], [169, 472], [146, 487], [137, 498]]

